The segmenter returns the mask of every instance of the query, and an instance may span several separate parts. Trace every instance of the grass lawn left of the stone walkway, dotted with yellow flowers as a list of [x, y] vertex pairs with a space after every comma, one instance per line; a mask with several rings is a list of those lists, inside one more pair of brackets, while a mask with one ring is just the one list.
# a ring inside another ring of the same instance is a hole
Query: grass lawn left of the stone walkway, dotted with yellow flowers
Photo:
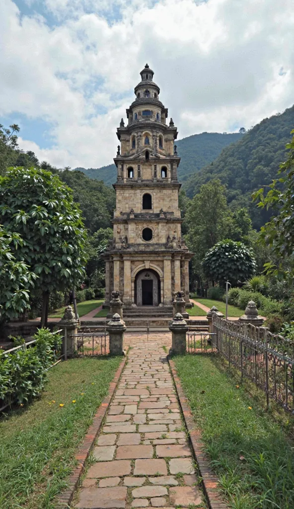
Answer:
[[76, 450], [121, 360], [57, 364], [39, 400], [1, 418], [1, 509], [53, 509], [53, 498], [66, 487]]

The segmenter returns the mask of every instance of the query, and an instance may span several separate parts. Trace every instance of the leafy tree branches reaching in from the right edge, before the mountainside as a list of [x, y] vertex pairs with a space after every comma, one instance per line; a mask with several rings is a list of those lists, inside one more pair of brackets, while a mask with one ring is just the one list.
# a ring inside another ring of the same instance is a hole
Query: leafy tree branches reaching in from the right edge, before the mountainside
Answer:
[[[293, 133], [294, 129], [291, 131]], [[264, 188], [260, 188], [253, 194], [253, 198], [259, 200], [259, 207], [272, 207], [278, 211], [277, 217], [273, 217], [261, 228], [263, 242], [271, 246], [272, 253], [279, 260], [277, 264], [266, 264], [268, 273], [293, 277], [293, 265], [285, 270], [284, 264], [294, 251], [294, 135], [286, 149], [289, 149], [288, 158], [280, 164], [278, 170], [281, 177], [273, 180], [265, 196]]]

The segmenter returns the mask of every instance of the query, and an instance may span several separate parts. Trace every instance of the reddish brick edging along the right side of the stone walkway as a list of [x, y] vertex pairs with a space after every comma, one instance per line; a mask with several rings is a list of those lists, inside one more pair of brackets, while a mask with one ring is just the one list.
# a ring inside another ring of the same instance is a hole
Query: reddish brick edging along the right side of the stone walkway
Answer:
[[167, 357], [167, 360], [170, 366], [175, 389], [178, 394], [180, 406], [182, 408], [195, 460], [199, 469], [200, 476], [203, 479], [203, 490], [207, 496], [209, 507], [210, 509], [227, 509], [228, 505], [223, 500], [220, 490], [218, 489], [218, 478], [211, 470], [209, 466], [209, 459], [203, 452], [204, 443], [202, 441], [202, 434], [199, 429], [195, 429], [194, 427], [195, 423], [193, 414], [191, 412], [189, 402], [184, 394], [181, 380], [178, 377], [174, 362], [169, 357]]

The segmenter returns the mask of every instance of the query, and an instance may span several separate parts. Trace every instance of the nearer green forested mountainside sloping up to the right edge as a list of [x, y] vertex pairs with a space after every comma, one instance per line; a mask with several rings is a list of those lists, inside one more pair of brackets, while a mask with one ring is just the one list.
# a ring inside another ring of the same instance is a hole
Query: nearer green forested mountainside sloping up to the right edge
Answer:
[[285, 145], [289, 143], [293, 128], [294, 106], [283, 114], [262, 120], [237, 143], [225, 147], [213, 162], [191, 176], [184, 183], [187, 195], [192, 197], [202, 184], [220, 179], [227, 187], [231, 209], [249, 207], [253, 227], [259, 228], [270, 214], [256, 210], [251, 203], [251, 194], [277, 177], [279, 163], [286, 159]]

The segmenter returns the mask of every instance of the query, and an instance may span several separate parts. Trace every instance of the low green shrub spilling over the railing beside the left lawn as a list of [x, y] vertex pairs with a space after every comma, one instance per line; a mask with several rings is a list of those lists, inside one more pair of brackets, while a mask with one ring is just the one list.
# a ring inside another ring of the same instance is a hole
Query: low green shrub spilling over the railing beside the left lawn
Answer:
[[36, 346], [15, 352], [0, 352], [0, 406], [22, 404], [36, 397], [47, 380], [47, 371], [60, 355], [62, 336], [39, 329]]

